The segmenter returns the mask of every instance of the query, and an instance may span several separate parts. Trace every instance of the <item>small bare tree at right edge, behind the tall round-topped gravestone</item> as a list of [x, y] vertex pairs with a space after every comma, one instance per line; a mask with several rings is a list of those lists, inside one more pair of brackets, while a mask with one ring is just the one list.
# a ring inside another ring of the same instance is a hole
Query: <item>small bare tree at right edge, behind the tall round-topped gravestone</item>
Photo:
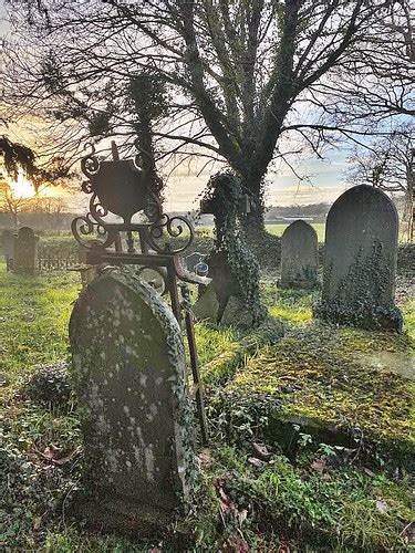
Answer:
[[414, 238], [415, 209], [415, 144], [414, 126], [396, 128], [385, 138], [372, 142], [367, 147], [355, 148], [350, 158], [349, 180], [374, 186], [386, 192], [404, 195], [403, 220], [407, 223], [407, 238]]

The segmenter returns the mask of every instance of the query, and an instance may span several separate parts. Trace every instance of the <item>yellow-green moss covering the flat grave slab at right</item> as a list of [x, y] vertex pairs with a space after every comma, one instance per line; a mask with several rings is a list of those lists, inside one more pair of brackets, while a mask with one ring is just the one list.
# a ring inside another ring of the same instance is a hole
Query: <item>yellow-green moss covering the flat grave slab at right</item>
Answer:
[[[319, 324], [291, 331], [248, 359], [219, 393], [216, 408], [226, 411], [243, 405], [249, 411], [250, 404], [268, 405], [264, 432], [286, 445], [293, 440], [293, 428], [300, 427], [321, 441], [338, 441], [413, 467], [414, 383], [353, 358], [356, 345], [373, 352], [384, 348], [385, 341], [390, 349], [409, 356], [413, 346], [406, 336]], [[263, 415], [263, 409], [257, 414]]]

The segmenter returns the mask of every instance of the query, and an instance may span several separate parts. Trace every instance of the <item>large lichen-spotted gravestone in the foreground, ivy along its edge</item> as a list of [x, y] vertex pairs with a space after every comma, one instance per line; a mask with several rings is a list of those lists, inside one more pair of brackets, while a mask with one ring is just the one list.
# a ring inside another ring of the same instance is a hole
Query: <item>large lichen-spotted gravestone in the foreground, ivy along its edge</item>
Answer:
[[134, 273], [107, 268], [81, 293], [70, 338], [94, 498], [83, 513], [160, 522], [187, 498], [193, 467], [178, 323]]

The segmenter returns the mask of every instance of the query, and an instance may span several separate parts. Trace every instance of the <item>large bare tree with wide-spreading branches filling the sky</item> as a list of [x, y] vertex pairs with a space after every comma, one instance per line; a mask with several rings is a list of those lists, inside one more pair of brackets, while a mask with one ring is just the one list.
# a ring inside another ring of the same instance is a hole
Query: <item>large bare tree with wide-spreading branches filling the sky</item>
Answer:
[[[318, 154], [331, 132], [365, 135], [373, 112], [394, 113], [387, 102], [381, 112], [370, 107], [376, 94], [376, 106], [383, 102], [382, 76], [394, 94], [403, 79], [395, 69], [408, 0], [9, 3], [17, 40], [8, 46], [8, 97], [54, 118], [70, 161], [85, 122], [87, 134], [118, 136], [131, 147], [137, 128], [128, 86], [151, 70], [170, 95], [152, 128], [156, 160], [174, 166], [195, 153], [206, 163], [225, 160], [255, 200], [246, 220], [253, 232], [263, 229], [264, 177], [284, 156], [283, 137], [294, 135]], [[380, 40], [385, 22], [387, 41]], [[341, 101], [362, 87], [370, 102], [350, 116]], [[414, 113], [400, 94], [400, 113]]]

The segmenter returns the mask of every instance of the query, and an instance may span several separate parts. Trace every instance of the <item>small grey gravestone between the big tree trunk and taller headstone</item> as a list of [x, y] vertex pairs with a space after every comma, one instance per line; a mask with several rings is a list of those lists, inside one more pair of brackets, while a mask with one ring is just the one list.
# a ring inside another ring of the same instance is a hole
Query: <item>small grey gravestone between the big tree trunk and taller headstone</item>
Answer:
[[281, 288], [318, 285], [318, 238], [305, 221], [292, 222], [281, 237]]

